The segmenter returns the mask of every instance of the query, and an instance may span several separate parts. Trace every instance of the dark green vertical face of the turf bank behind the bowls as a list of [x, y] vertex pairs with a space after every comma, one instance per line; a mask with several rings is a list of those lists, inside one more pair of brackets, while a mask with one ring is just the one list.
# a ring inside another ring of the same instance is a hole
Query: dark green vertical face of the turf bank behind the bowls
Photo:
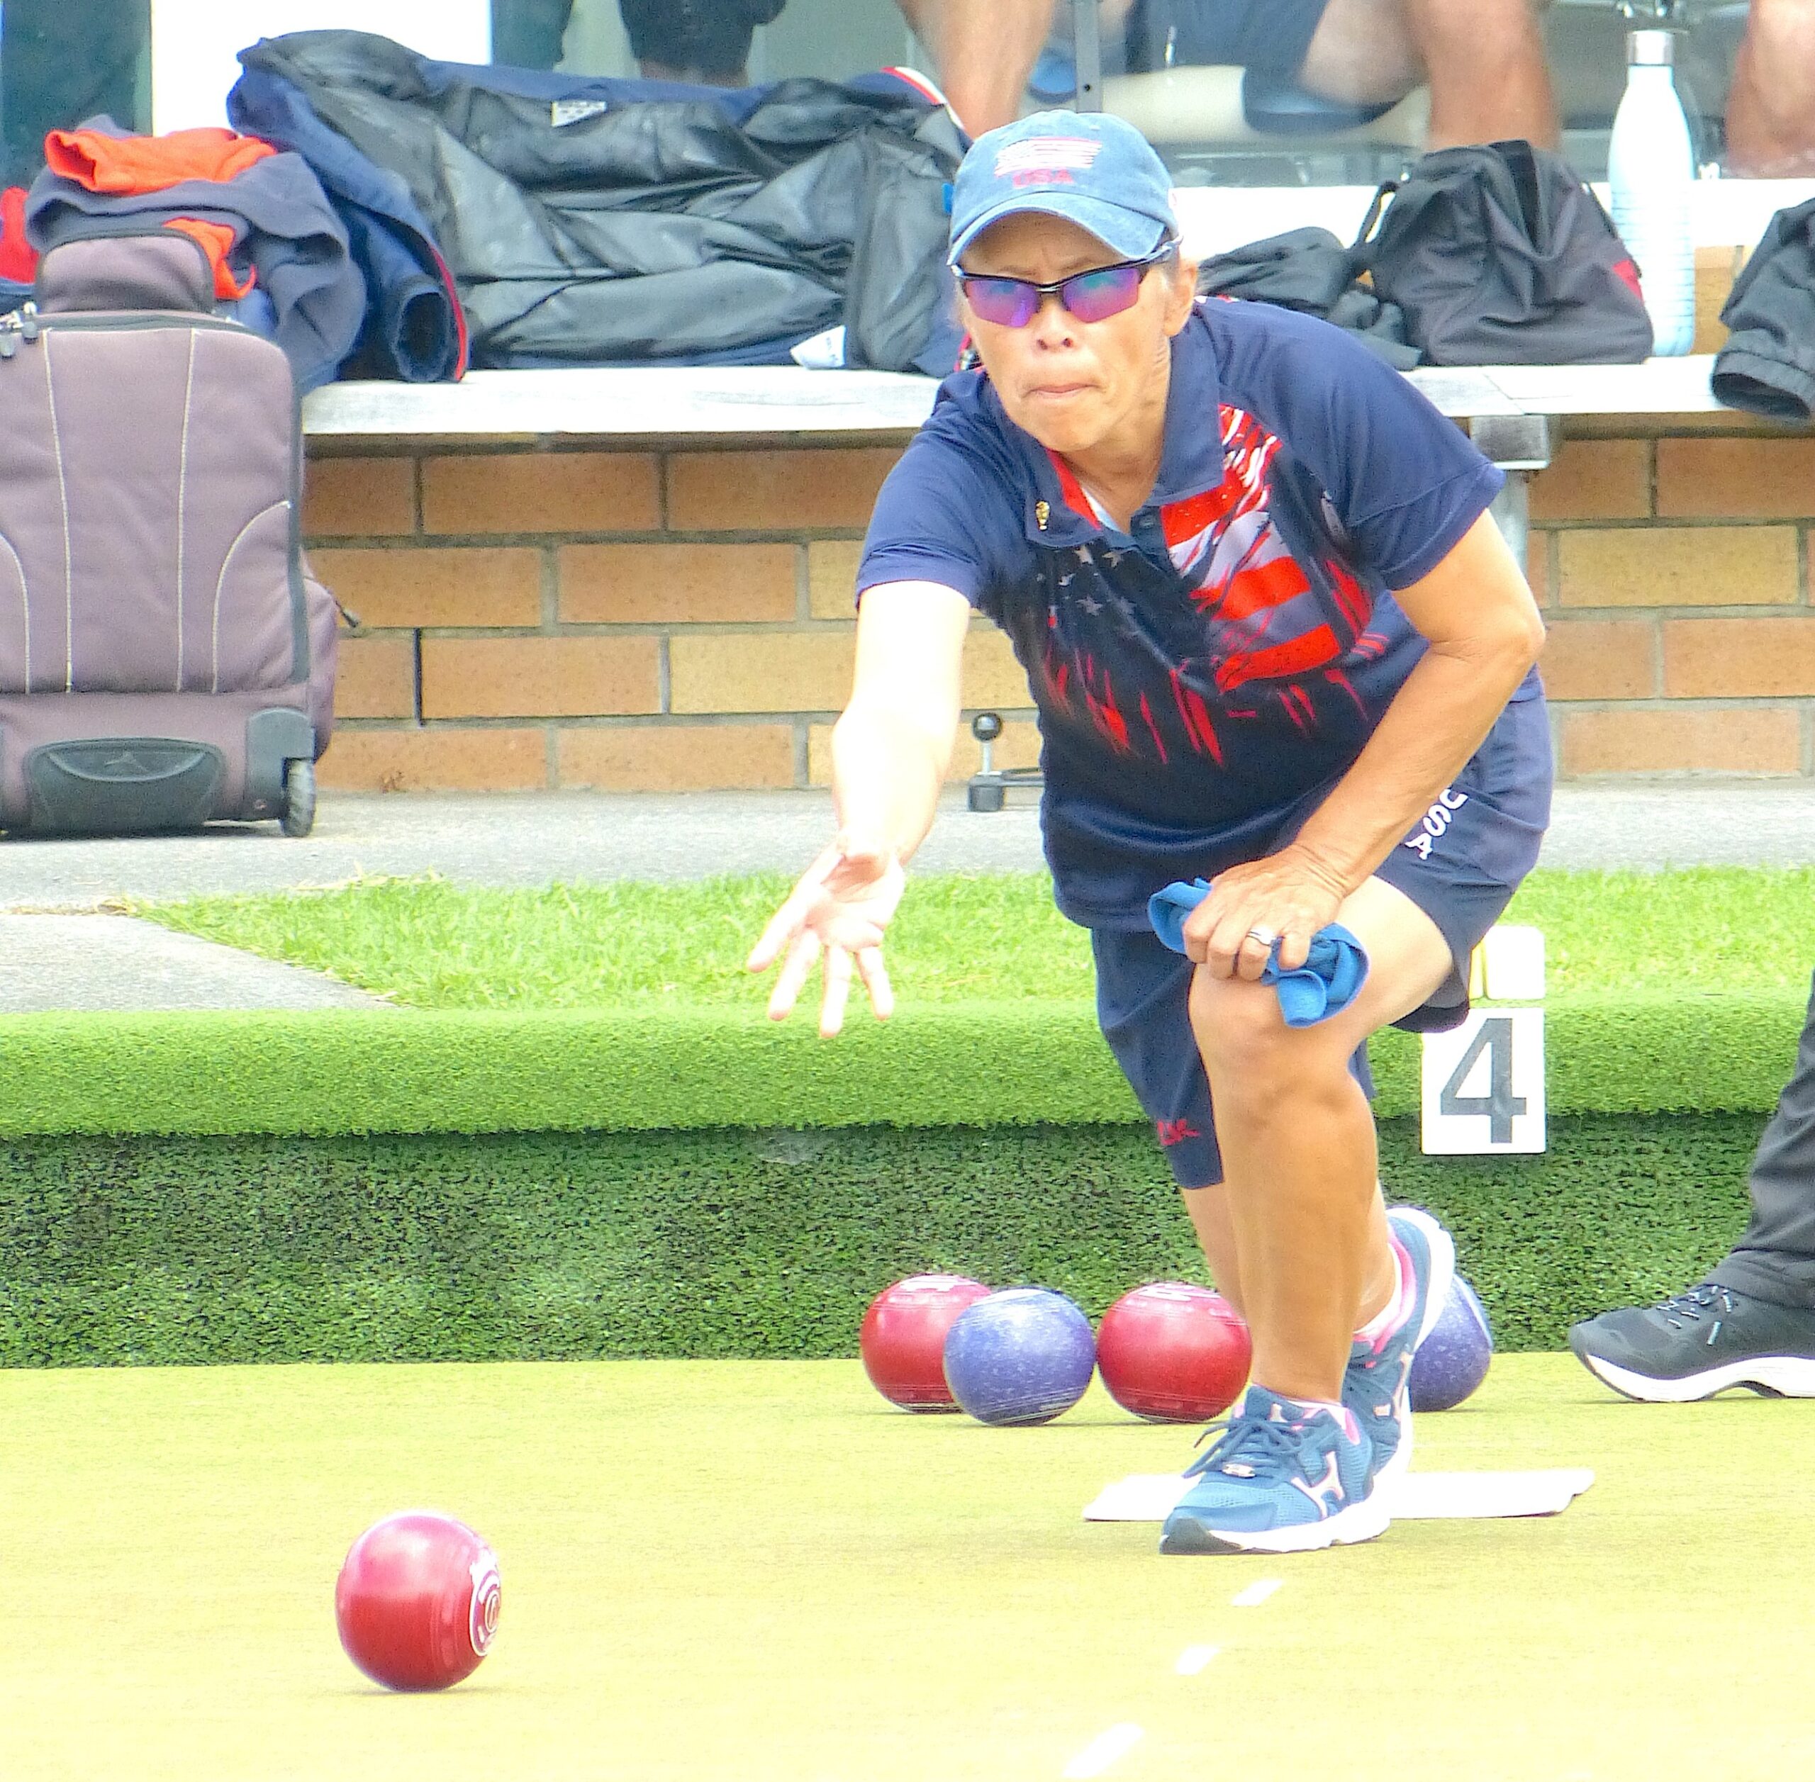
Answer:
[[[1566, 1116], [1526, 1158], [1425, 1158], [1501, 1348], [1692, 1281], [1744, 1223], [1759, 1114]], [[1203, 1279], [1131, 1125], [0, 1143], [0, 1365], [849, 1356], [898, 1276], [1091, 1314]]]

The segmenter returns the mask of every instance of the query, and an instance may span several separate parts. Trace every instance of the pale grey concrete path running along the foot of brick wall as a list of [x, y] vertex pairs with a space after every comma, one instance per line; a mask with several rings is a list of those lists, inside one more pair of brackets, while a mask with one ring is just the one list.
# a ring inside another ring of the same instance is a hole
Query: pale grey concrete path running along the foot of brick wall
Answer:
[[[372, 1005], [347, 985], [96, 911], [118, 900], [285, 891], [441, 873], [472, 886], [797, 871], [831, 835], [822, 791], [686, 797], [336, 797], [316, 833], [274, 826], [132, 840], [0, 840], [0, 1013]], [[1565, 788], [1546, 866], [1815, 864], [1815, 788], [1768, 782]], [[920, 871], [1038, 871], [1031, 804], [947, 798]]]

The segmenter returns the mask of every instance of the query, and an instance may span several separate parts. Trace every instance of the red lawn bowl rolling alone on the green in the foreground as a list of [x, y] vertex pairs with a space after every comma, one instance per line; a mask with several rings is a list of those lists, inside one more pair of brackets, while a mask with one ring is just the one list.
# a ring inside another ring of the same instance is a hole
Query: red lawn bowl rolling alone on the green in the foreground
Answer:
[[374, 1523], [334, 1586], [347, 1657], [387, 1689], [446, 1689], [470, 1677], [497, 1631], [497, 1557], [430, 1510]]

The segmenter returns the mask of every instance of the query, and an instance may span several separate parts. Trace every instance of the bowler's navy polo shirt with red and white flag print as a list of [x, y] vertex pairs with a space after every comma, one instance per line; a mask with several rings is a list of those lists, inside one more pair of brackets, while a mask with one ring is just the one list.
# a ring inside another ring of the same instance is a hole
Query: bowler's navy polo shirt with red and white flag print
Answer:
[[1349, 769], [1425, 651], [1390, 590], [1499, 486], [1339, 328], [1200, 301], [1133, 535], [960, 372], [877, 497], [858, 599], [940, 583], [1007, 632], [1060, 909], [1138, 929], [1153, 891], [1278, 847]]

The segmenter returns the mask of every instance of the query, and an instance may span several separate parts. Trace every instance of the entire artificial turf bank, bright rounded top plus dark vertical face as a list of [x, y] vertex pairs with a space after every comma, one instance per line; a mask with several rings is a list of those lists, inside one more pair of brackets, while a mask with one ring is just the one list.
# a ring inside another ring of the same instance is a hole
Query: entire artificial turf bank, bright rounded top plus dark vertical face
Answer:
[[[1029, 960], [833, 1043], [690, 1000], [679, 955], [643, 962], [677, 1002], [0, 1018], [0, 1365], [844, 1356], [920, 1268], [1093, 1312], [1202, 1278], [1089, 1000]], [[1800, 984], [1608, 964], [1546, 1004], [1545, 1156], [1419, 1156], [1418, 1043], [1372, 1047], [1388, 1190], [1456, 1227], [1501, 1346], [1722, 1254], [1795, 1056]]]

